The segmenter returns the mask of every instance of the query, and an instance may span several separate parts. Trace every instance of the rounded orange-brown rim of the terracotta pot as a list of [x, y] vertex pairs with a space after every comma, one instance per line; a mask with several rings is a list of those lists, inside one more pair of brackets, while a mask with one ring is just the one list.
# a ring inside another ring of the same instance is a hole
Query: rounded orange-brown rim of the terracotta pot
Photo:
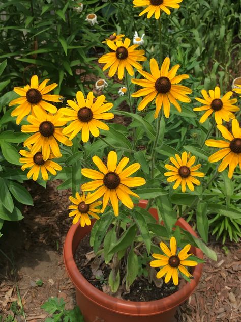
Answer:
[[[140, 200], [139, 205], [141, 204], [144, 207], [146, 207], [147, 201]], [[92, 220], [92, 223], [94, 223], [94, 221], [95, 220]], [[183, 218], [179, 218], [176, 224], [192, 233], [192, 235], [194, 235], [195, 237], [197, 237], [197, 234], [194, 232], [192, 227]], [[87, 226], [87, 228], [89, 228], [89, 226]], [[89, 283], [83, 277], [78, 267], [76, 266], [73, 253], [73, 239], [78, 234], [79, 229], [83, 228], [80, 227], [80, 225], [78, 224], [72, 225], [66, 235], [66, 240], [63, 249], [66, 271], [70, 279], [74, 283], [75, 287], [78, 289], [78, 291], [84, 294], [84, 296], [87, 297], [90, 301], [98, 304], [99, 306], [104, 307], [107, 310], [115, 311], [125, 315], [156, 315], [160, 312], [171, 310], [185, 302], [198, 285], [202, 273], [202, 263], [198, 264], [197, 266], [194, 266], [194, 270], [192, 273], [194, 279], [192, 279], [190, 283], [187, 282], [178, 291], [163, 299], [148, 302], [136, 302], [117, 299], [112, 296], [109, 296], [108, 294], [105, 294], [104, 292], [93, 286], [91, 283]], [[194, 254], [199, 258], [203, 258], [203, 253], [199, 248], [195, 247]], [[128, 311], [131, 313], [129, 313]]]

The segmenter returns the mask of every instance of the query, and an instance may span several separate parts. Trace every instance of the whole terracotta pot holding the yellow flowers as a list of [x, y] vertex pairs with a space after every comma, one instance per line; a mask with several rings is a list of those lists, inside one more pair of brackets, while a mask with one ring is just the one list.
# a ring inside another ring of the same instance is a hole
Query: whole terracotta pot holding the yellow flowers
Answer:
[[[147, 202], [141, 200], [139, 206], [145, 208]], [[152, 208], [149, 212], [154, 218], [158, 218], [157, 210]], [[111, 297], [95, 286], [90, 284], [79, 272], [75, 261], [74, 253], [81, 239], [91, 231], [94, 224], [81, 228], [80, 225], [72, 225], [66, 236], [64, 245], [64, 262], [67, 273], [76, 287], [76, 301], [85, 322], [172, 322], [177, 307], [186, 301], [196, 288], [202, 272], [202, 264], [194, 267], [193, 277], [190, 283], [186, 283], [182, 288], [172, 295], [155, 301], [134, 302], [116, 299]], [[184, 228], [196, 236], [191, 226], [180, 218], [176, 225]], [[199, 258], [203, 258], [200, 249], [191, 248], [191, 252]]]

